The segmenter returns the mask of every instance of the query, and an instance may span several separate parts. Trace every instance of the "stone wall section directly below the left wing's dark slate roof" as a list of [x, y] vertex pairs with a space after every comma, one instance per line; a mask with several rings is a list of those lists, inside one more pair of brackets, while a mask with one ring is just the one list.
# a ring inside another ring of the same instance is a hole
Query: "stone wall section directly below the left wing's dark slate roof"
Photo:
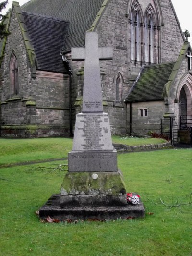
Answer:
[[69, 76], [37, 71], [32, 81], [36, 99], [36, 124], [58, 124], [69, 127]]

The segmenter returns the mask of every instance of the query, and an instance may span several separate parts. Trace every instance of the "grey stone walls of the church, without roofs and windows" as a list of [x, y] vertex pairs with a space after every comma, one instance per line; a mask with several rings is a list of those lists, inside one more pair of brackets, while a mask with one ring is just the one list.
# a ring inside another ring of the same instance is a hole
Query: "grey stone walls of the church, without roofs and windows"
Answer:
[[[139, 2], [144, 12], [152, 1], [139, 0]], [[183, 38], [170, 1], [159, 0], [158, 2], [161, 7], [159, 14], [162, 15], [160, 27], [161, 45], [159, 45], [161, 62], [175, 61], [182, 47]], [[154, 0], [152, 4], [155, 5], [156, 3], [157, 0]], [[127, 5], [127, 0], [110, 0], [96, 27], [99, 35], [99, 46], [113, 47], [113, 61], [100, 61], [102, 70], [105, 73], [102, 75], [104, 103], [107, 103], [104, 106], [104, 111], [109, 114], [112, 134], [129, 133], [130, 109], [129, 105], [126, 107], [124, 100], [141, 69], [139, 65], [133, 67], [130, 59], [130, 24], [126, 15]], [[1, 135], [3, 135], [5, 127], [9, 125], [23, 124], [37, 125], [38, 129], [34, 128], [37, 129], [34, 133], [36, 136], [39, 134], [43, 136], [54, 135], [54, 131], [55, 134], [58, 134], [56, 132], [58, 129], [61, 135], [69, 134], [71, 120], [73, 127], [76, 114], [81, 112], [84, 61], [71, 61], [71, 55], [66, 55], [73, 70], [70, 104], [69, 76], [37, 71], [36, 79], [31, 78], [30, 61], [14, 12], [12, 14], [10, 32], [0, 74]], [[19, 95], [17, 95], [16, 99], [10, 99], [9, 92], [9, 61], [13, 49], [19, 62]], [[118, 74], [120, 74], [122, 85], [121, 103], [115, 102], [115, 85]], [[178, 78], [181, 76], [182, 69]], [[30, 100], [32, 102], [29, 102]], [[168, 109], [177, 110], [178, 106], [174, 104], [174, 99], [171, 98], [171, 106]], [[148, 114], [151, 115], [151, 118], [148, 117], [142, 120], [138, 117], [138, 108], [142, 108], [143, 105], [141, 103], [132, 105], [132, 121], [134, 121], [132, 123], [132, 133], [135, 135], [147, 134], [149, 130], [159, 131], [160, 119], [164, 111], [166, 111], [165, 105], [162, 102], [149, 102], [144, 104], [144, 106], [146, 105], [149, 108]], [[153, 112], [150, 112], [152, 109]], [[47, 125], [47, 128], [45, 125]], [[44, 132], [39, 132], [39, 129]], [[51, 132], [49, 133], [48, 130]]]

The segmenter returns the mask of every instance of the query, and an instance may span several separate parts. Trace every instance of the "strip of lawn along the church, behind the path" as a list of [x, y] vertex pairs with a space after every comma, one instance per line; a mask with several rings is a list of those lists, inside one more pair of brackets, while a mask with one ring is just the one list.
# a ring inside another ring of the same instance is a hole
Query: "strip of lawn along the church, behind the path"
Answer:
[[[112, 136], [114, 143], [130, 146], [166, 142], [158, 138]], [[0, 166], [45, 159], [67, 158], [72, 138], [6, 139], [0, 138]]]

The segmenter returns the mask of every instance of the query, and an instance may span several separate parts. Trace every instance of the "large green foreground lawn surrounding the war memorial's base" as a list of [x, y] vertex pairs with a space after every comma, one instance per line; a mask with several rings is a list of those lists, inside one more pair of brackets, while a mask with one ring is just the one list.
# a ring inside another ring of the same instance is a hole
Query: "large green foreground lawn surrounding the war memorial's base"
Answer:
[[[18, 152], [28, 159], [28, 152]], [[60, 146], [54, 154], [59, 156]], [[127, 192], [144, 202], [144, 219], [40, 222], [35, 211], [60, 192], [64, 172], [35, 168], [65, 163], [0, 168], [0, 256], [192, 256], [192, 149], [118, 155]], [[166, 207], [160, 198], [180, 207]]]

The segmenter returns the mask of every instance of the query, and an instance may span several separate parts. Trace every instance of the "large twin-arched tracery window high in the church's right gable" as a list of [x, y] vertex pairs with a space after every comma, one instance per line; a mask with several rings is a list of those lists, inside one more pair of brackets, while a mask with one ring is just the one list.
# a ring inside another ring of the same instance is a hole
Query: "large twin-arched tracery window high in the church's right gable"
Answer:
[[130, 57], [135, 64], [143, 65], [160, 61], [161, 22], [156, 8], [155, 5], [149, 4], [145, 12], [142, 12], [138, 0], [134, 0], [130, 6]]

